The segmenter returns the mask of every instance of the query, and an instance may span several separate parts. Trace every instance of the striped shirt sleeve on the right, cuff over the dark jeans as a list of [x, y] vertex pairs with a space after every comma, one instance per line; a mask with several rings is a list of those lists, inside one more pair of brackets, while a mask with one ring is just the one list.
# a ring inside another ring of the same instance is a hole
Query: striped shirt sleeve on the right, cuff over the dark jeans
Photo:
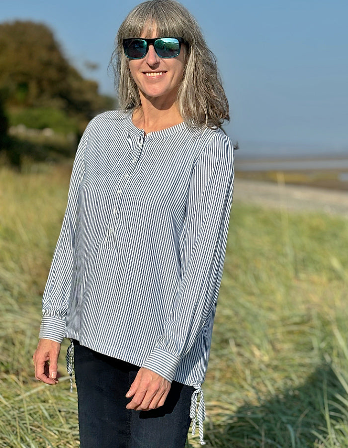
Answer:
[[[233, 148], [217, 132], [191, 176], [180, 238], [181, 282], [155, 349], [143, 363], [172, 381], [180, 360], [215, 314], [233, 195]], [[211, 328], [209, 329], [211, 331]]]

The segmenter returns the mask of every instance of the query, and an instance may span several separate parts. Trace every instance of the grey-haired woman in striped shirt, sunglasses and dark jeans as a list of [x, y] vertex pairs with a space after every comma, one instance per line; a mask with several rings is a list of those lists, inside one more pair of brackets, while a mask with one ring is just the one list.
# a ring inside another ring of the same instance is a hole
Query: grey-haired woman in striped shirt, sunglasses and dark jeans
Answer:
[[[114, 52], [121, 111], [87, 126], [43, 298], [36, 378], [74, 342], [81, 447], [201, 443], [201, 383], [233, 190], [214, 56], [181, 4], [150, 0]], [[200, 394], [200, 399], [197, 396]]]

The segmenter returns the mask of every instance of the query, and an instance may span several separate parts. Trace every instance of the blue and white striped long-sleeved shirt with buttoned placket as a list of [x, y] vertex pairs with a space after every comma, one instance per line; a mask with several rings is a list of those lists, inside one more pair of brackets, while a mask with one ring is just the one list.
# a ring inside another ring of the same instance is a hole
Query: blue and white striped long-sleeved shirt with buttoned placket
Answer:
[[145, 135], [131, 113], [97, 115], [76, 154], [40, 337], [74, 338], [199, 390], [233, 179], [220, 129]]

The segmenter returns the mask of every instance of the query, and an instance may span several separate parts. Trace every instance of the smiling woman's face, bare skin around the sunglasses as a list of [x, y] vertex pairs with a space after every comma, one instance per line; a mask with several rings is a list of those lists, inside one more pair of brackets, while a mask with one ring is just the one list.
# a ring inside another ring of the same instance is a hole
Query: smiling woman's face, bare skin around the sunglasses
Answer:
[[[146, 38], [146, 33], [141, 34]], [[162, 37], [153, 30], [152, 38]], [[185, 46], [182, 44], [180, 54], [175, 58], [163, 59], [158, 56], [153, 45], [143, 59], [130, 59], [129, 70], [138, 86], [140, 97], [145, 97], [150, 101], [154, 98], [161, 99], [161, 104], [168, 104], [170, 107], [177, 94], [177, 89], [183, 76], [185, 62]]]

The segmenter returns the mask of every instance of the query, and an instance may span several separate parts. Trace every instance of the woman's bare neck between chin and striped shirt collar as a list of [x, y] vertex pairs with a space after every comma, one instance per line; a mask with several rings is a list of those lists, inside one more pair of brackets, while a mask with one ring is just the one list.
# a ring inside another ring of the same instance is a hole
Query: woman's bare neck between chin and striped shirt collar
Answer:
[[133, 123], [145, 133], [159, 131], [182, 123], [176, 102], [159, 98], [148, 99], [140, 93], [141, 108], [133, 112]]

